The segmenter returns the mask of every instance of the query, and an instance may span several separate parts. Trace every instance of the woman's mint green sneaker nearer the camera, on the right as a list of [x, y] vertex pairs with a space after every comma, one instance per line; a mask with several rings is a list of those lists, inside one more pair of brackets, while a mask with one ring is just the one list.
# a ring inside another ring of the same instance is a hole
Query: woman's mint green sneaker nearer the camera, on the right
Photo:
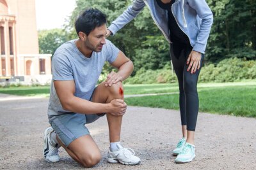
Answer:
[[180, 152], [177, 158], [175, 159], [175, 162], [176, 163], [191, 162], [195, 157], [196, 157], [195, 146], [189, 143], [186, 143], [182, 149], [182, 152]]

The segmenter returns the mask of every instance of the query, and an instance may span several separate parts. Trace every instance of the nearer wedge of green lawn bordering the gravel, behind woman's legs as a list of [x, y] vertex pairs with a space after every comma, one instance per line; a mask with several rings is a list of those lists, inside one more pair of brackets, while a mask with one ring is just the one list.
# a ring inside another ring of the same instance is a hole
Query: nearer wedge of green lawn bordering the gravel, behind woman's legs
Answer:
[[[199, 110], [243, 117], [256, 117], [256, 86], [198, 88]], [[179, 94], [130, 97], [125, 102], [131, 106], [179, 109]]]

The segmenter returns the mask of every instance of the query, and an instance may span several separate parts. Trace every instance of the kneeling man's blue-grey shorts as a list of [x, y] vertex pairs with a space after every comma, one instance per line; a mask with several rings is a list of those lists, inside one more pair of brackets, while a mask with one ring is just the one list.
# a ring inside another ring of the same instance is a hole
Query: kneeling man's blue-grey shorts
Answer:
[[[90, 99], [92, 101], [92, 99]], [[90, 124], [100, 117], [103, 117], [106, 113], [84, 115], [79, 113], [67, 113], [65, 115], [59, 115], [52, 118], [50, 124], [62, 143], [68, 147], [68, 145], [81, 136], [88, 135], [88, 131], [85, 124]]]

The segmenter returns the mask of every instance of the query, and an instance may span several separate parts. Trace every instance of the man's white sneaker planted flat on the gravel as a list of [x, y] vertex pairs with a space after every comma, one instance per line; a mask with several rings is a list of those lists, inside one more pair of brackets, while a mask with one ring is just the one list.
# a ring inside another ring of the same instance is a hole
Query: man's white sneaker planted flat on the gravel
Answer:
[[134, 156], [135, 153], [131, 148], [124, 148], [122, 145], [117, 144], [118, 150], [111, 152], [108, 150], [108, 162], [118, 163], [124, 165], [138, 165], [140, 164], [140, 158]]

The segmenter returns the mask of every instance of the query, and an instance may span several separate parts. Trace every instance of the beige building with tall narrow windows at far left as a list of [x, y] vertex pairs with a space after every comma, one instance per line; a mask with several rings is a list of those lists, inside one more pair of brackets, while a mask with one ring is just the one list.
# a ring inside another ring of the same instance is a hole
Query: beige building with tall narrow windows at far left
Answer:
[[35, 0], [0, 0], [0, 79], [51, 81], [51, 54], [39, 54]]

